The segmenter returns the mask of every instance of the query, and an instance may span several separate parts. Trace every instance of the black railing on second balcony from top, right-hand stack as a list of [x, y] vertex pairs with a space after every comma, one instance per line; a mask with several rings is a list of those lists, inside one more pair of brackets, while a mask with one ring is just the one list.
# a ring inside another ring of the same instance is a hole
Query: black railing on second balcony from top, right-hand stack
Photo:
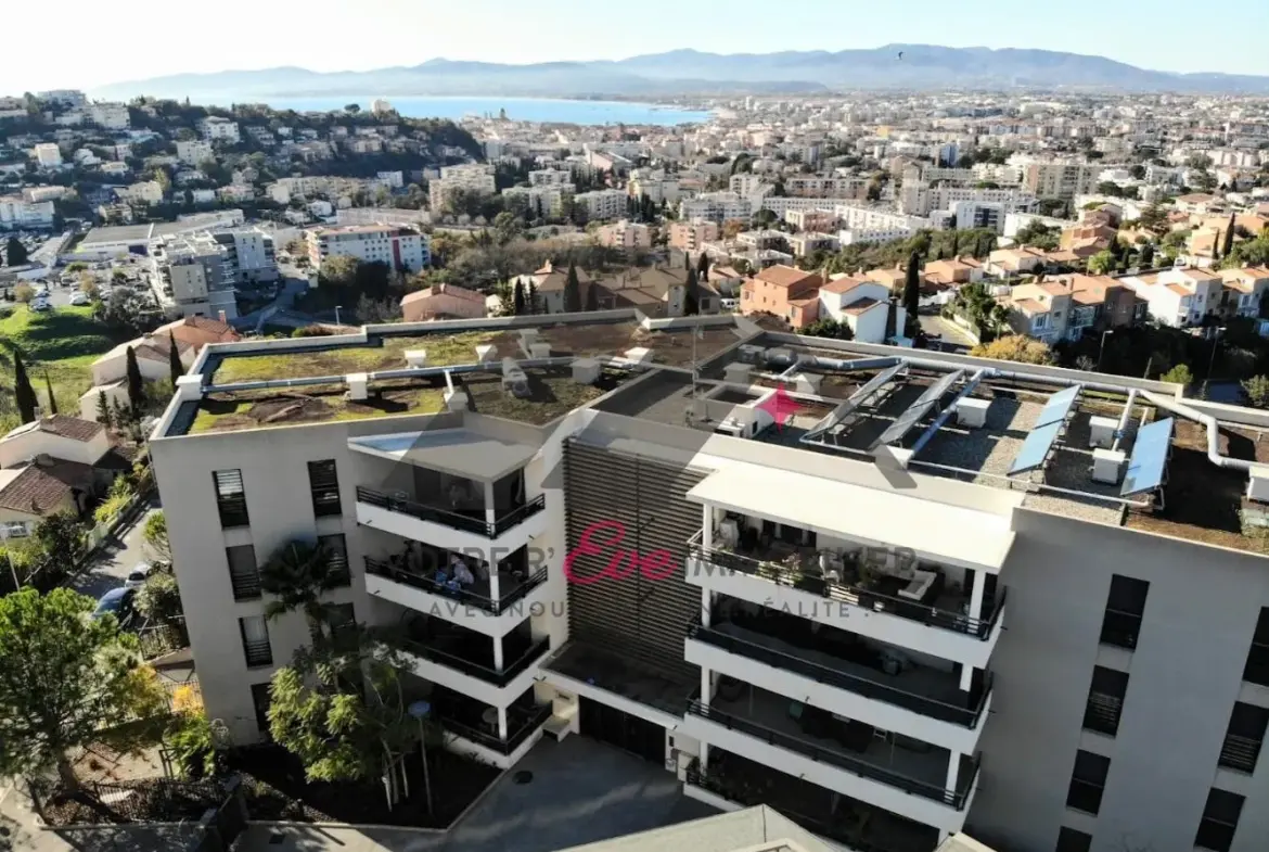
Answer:
[[919, 712], [923, 716], [930, 716], [931, 719], [964, 725], [966, 728], [977, 726], [978, 720], [982, 717], [982, 711], [987, 705], [987, 696], [991, 693], [991, 673], [989, 672], [983, 679], [981, 695], [978, 696], [976, 706], [959, 707], [945, 701], [939, 701], [938, 698], [930, 698], [907, 692], [905, 689], [898, 689], [878, 679], [851, 674], [849, 672], [844, 672], [843, 669], [817, 663], [806, 656], [780, 651], [768, 645], [749, 641], [747, 639], [741, 639], [712, 627], [703, 627], [700, 625], [699, 616], [697, 617], [697, 621], [688, 627], [688, 639], [708, 642], [714, 648], [721, 648], [722, 650], [732, 654], [740, 654], [741, 656], [746, 656], [759, 663], [765, 663], [766, 665], [777, 669], [794, 672], [802, 677], [811, 678], [817, 683], [825, 683], [840, 689], [846, 689], [849, 692], [854, 692], [855, 695], [862, 695], [865, 698], [884, 701], [886, 703], [895, 705], [896, 707], [904, 707], [905, 710]]

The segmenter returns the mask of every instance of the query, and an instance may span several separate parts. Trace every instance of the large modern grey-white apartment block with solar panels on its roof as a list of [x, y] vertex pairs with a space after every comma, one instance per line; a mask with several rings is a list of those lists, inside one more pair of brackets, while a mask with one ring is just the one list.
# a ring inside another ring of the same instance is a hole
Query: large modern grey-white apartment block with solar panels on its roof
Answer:
[[411, 696], [496, 766], [593, 736], [851, 849], [1260, 852], [1265, 428], [1160, 382], [604, 311], [208, 345], [151, 453], [237, 742], [308, 641], [259, 566], [317, 540], [341, 617], [401, 627]]

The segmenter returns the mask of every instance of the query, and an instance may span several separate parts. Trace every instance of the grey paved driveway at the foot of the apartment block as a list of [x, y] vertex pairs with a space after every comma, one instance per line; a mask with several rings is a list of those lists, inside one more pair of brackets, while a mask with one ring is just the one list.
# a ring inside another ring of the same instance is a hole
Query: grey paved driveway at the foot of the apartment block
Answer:
[[[522, 772], [532, 780], [516, 783]], [[258, 825], [239, 852], [555, 852], [716, 813], [664, 767], [569, 736], [538, 743], [448, 834]]]

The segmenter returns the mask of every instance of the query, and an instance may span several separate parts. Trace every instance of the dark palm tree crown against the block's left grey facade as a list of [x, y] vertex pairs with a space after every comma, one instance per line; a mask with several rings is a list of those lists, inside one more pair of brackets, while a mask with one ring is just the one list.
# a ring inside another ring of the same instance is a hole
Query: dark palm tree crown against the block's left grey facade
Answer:
[[260, 587], [274, 596], [264, 608], [273, 620], [301, 611], [315, 639], [329, 637], [335, 604], [322, 601], [332, 589], [348, 585], [348, 566], [325, 545], [292, 541], [283, 545], [260, 569]]

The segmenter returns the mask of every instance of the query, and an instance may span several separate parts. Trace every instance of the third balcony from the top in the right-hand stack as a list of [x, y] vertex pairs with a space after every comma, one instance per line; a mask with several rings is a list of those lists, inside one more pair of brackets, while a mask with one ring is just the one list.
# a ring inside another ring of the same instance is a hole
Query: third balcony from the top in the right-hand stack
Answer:
[[949, 752], [782, 696], [720, 684], [712, 706], [694, 701], [684, 733], [773, 769], [924, 825], [959, 830], [978, 776], [961, 757], [948, 789]]

